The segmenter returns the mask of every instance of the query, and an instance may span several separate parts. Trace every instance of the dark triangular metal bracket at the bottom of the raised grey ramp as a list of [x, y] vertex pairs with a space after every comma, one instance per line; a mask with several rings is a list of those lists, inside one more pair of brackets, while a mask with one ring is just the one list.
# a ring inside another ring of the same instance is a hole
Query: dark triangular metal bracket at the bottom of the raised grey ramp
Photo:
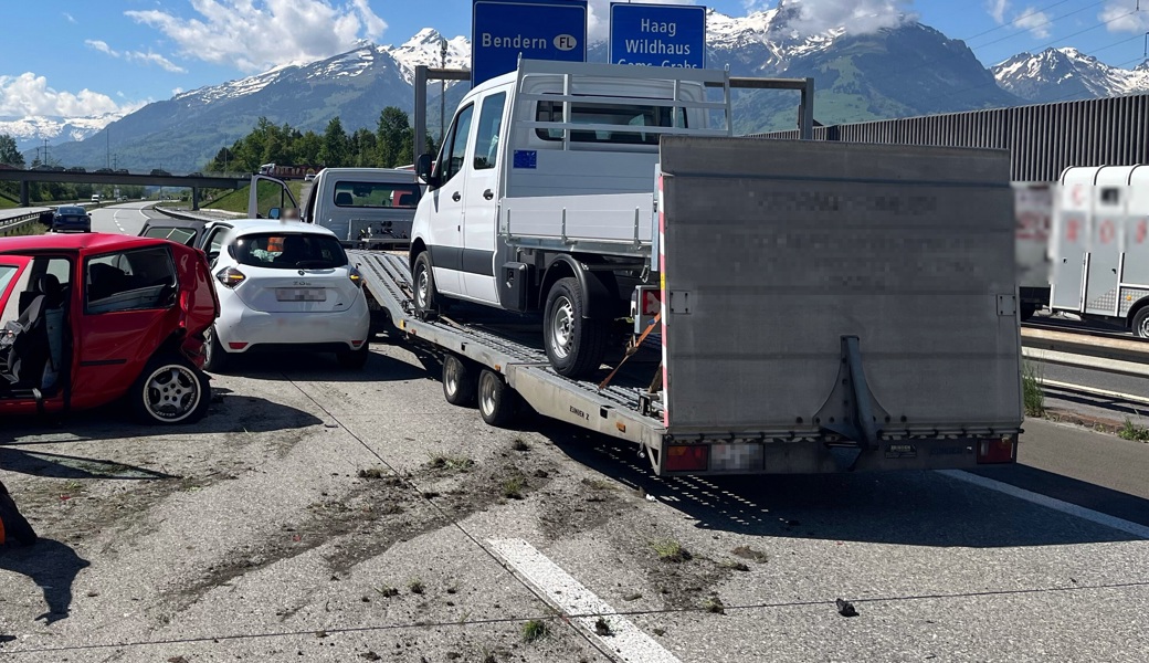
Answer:
[[843, 336], [841, 339], [841, 364], [834, 388], [813, 421], [823, 434], [845, 438], [826, 442], [826, 446], [839, 469], [851, 471], [864, 452], [878, 449], [881, 423], [889, 421], [889, 413], [866, 383], [858, 337]]

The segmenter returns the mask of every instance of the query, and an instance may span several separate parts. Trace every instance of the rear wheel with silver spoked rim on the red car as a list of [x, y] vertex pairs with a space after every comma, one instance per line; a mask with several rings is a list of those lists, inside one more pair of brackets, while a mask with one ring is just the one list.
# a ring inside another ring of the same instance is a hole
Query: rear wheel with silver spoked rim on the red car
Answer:
[[152, 357], [128, 392], [136, 418], [148, 424], [190, 424], [211, 401], [208, 377], [177, 354]]

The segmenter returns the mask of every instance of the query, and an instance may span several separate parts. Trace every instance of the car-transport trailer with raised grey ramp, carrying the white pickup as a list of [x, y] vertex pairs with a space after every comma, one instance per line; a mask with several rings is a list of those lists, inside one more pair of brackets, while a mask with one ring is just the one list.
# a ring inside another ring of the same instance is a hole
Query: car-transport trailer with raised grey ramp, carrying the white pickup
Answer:
[[556, 372], [535, 318], [418, 311], [406, 256], [352, 261], [394, 333], [441, 359], [447, 400], [493, 425], [525, 403], [663, 476], [1016, 461], [1004, 152], [664, 136], [655, 182], [641, 333], [593, 380]]

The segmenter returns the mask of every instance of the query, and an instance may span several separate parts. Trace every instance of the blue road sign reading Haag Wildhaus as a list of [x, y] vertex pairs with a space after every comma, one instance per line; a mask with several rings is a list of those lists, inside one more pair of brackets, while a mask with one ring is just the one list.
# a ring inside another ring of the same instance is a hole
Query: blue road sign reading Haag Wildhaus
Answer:
[[707, 65], [707, 8], [697, 5], [610, 5], [614, 64]]

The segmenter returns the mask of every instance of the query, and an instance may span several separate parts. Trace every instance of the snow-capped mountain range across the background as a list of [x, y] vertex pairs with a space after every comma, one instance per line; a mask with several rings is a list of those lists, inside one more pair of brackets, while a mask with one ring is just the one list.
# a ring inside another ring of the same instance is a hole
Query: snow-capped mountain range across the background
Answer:
[[[795, 11], [782, 5], [734, 18], [709, 10], [707, 65], [732, 76], [812, 77], [822, 124], [1149, 92], [1149, 61], [1126, 70], [1073, 48], [1050, 48], [987, 69], [963, 41], [921, 23], [801, 37], [792, 29]], [[464, 37], [449, 40], [446, 65], [469, 68], [470, 49]], [[334, 116], [348, 133], [375, 129], [383, 108], [411, 110], [415, 67], [439, 65], [440, 57], [439, 33], [424, 29], [400, 46], [360, 43], [326, 60], [184, 92], [123, 117], [0, 117], [0, 133], [13, 134], [22, 149], [45, 138], [59, 142], [52, 157], [64, 165], [102, 167], [111, 142], [119, 168], [199, 170], [260, 117], [317, 133]], [[606, 44], [592, 44], [588, 60], [606, 61]], [[448, 90], [448, 116], [464, 90]], [[795, 126], [796, 92], [738, 91], [733, 102], [739, 133]], [[438, 131], [438, 122], [429, 124]], [[105, 128], [110, 140], [94, 136]]]

